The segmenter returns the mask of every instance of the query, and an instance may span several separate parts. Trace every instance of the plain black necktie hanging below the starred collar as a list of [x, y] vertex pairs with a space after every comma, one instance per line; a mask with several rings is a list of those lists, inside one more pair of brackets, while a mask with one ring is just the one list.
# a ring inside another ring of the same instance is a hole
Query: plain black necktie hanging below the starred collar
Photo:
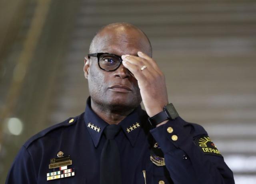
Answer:
[[106, 143], [100, 155], [100, 184], [121, 184], [121, 166], [118, 146], [114, 137], [120, 125], [108, 125], [104, 129]]

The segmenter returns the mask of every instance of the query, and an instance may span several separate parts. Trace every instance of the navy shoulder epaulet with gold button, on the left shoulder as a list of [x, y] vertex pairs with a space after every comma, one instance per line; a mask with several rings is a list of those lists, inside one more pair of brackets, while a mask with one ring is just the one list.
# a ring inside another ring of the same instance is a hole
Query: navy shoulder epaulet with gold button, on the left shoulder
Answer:
[[48, 134], [56, 129], [74, 125], [77, 122], [77, 119], [78, 119], [78, 116], [70, 117], [70, 118], [66, 119], [65, 121], [62, 121], [61, 123], [52, 125], [51, 127], [48, 127], [46, 129], [40, 131], [39, 133], [37, 133], [36, 135], [34, 135], [30, 139], [28, 139], [28, 141], [26, 141], [26, 143], [24, 143], [24, 147], [28, 148], [31, 145], [31, 143], [33, 143], [34, 141], [36, 141], [37, 139], [39, 139], [41, 137], [44, 137], [46, 134]]

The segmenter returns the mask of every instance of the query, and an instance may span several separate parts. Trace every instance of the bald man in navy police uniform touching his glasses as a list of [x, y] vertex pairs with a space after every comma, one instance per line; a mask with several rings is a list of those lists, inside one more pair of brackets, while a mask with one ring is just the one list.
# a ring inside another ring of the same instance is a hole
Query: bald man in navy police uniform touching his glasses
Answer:
[[89, 53], [85, 112], [30, 138], [6, 184], [234, 184], [206, 131], [169, 104], [164, 75], [140, 29], [107, 25]]

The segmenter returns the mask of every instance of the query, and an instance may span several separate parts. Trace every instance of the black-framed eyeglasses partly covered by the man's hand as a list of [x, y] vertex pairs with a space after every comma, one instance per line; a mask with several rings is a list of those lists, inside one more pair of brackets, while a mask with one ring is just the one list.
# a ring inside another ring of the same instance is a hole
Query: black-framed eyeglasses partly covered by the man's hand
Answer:
[[118, 67], [120, 67], [122, 63], [121, 56], [111, 54], [111, 53], [93, 53], [88, 54], [88, 58], [90, 57], [97, 57], [98, 58], [98, 65], [100, 69], [112, 72]]

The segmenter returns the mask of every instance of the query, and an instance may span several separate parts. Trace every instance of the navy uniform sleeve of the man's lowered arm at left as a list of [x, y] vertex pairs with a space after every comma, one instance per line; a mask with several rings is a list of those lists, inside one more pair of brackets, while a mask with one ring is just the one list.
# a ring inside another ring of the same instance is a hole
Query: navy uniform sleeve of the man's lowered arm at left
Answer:
[[6, 178], [6, 184], [36, 184], [34, 163], [28, 150], [22, 146]]

